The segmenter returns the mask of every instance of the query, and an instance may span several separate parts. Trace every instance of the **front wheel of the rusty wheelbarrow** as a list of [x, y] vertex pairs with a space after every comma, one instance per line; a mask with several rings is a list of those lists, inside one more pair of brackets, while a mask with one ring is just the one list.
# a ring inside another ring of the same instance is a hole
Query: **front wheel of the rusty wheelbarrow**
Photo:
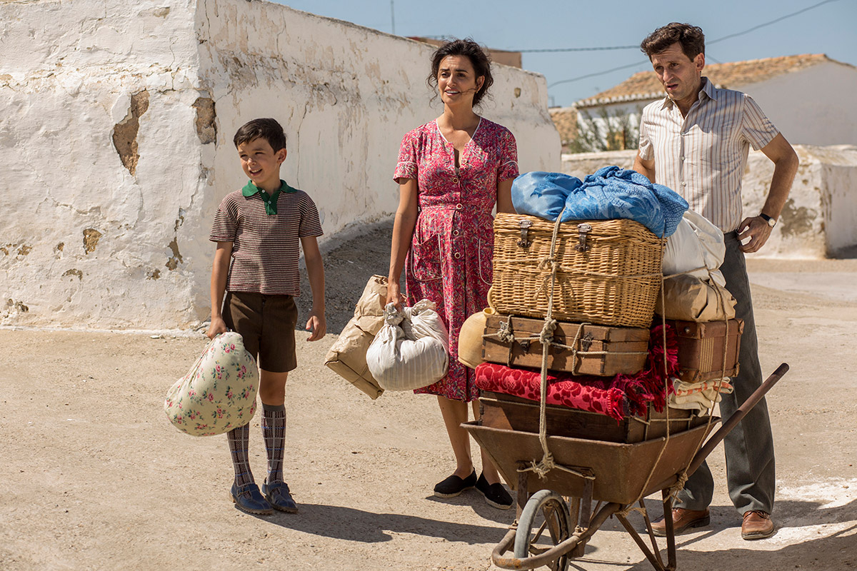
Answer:
[[[549, 546], [543, 546], [548, 541], [544, 536], [547, 530]], [[518, 531], [515, 532], [515, 557], [536, 556], [554, 545], [565, 541], [569, 536], [568, 505], [566, 501], [553, 490], [540, 490], [530, 497], [518, 518]], [[537, 545], [542, 541], [542, 546]], [[563, 555], [554, 560], [548, 568], [553, 571], [565, 571], [568, 556]]]

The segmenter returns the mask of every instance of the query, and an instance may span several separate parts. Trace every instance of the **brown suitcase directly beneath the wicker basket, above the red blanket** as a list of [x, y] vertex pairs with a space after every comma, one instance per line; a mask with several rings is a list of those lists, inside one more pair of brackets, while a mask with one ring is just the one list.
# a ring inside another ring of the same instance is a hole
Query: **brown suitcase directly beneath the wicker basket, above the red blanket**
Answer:
[[[511, 325], [515, 341], [504, 342], [496, 334]], [[506, 366], [542, 367], [542, 343], [538, 336], [544, 326], [543, 319], [489, 315], [482, 338], [482, 359]], [[573, 375], [614, 377], [620, 373], [632, 374], [645, 365], [649, 350], [649, 330], [637, 327], [608, 327], [605, 325], [558, 323], [554, 342], [572, 345], [572, 349], [551, 347], [548, 370], [569, 372]], [[536, 339], [527, 341], [527, 337]]]

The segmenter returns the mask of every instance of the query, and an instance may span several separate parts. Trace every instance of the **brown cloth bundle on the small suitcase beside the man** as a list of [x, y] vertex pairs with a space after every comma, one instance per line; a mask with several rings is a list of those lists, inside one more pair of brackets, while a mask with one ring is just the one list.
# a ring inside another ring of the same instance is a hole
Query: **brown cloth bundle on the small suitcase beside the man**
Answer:
[[663, 278], [663, 303], [658, 295], [655, 312], [680, 321], [725, 321], [734, 319], [736, 303], [719, 283], [680, 274]]

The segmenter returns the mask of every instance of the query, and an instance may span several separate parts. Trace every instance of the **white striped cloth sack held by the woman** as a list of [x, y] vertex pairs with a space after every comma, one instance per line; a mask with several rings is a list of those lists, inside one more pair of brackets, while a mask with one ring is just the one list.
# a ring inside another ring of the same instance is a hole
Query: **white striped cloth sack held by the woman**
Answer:
[[366, 352], [372, 376], [386, 390], [422, 389], [446, 375], [448, 333], [433, 301], [385, 309], [384, 326]]

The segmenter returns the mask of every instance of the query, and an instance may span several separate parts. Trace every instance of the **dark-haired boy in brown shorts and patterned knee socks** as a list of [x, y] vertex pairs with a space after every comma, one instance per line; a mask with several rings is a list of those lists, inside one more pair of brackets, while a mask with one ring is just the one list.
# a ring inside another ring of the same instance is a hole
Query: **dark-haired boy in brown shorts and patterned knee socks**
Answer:
[[238, 129], [233, 142], [249, 181], [226, 195], [214, 217], [209, 240], [217, 242], [217, 250], [211, 282], [212, 322], [206, 335], [212, 339], [235, 330], [243, 337], [244, 348], [258, 359], [268, 467], [260, 492], [250, 473], [249, 425], [230, 431], [227, 437], [235, 468], [230, 494], [237, 508], [250, 514], [271, 514], [273, 509], [295, 513], [297, 504], [283, 481], [283, 452], [285, 381], [297, 367], [293, 299], [300, 294], [297, 242], [303, 247], [313, 292], [307, 341], [318, 341], [327, 329], [324, 267], [316, 241], [322, 234], [321, 223], [309, 195], [279, 178], [286, 149], [278, 122], [255, 119]]

